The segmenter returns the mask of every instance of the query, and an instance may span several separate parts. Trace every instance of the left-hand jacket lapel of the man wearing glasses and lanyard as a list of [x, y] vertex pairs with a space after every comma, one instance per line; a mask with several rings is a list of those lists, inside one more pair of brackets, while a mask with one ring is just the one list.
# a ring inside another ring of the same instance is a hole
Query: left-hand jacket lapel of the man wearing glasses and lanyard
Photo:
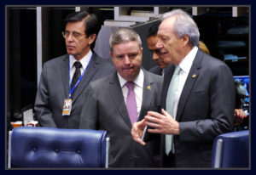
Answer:
[[64, 56], [62, 62], [61, 62], [61, 78], [63, 82], [63, 88], [66, 98], [69, 95], [69, 71], [68, 66], [69, 65], [69, 59], [68, 54]]

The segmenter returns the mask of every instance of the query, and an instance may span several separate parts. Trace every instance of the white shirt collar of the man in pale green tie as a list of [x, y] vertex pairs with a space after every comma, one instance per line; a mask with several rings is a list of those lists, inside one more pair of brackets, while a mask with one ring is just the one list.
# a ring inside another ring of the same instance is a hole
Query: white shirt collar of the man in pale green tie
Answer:
[[198, 48], [195, 46], [194, 48], [192, 48], [192, 50], [190, 50], [189, 54], [187, 54], [185, 56], [185, 58], [182, 60], [182, 62], [180, 62], [180, 64], [178, 65], [182, 71], [189, 73], [190, 68], [193, 64], [193, 61], [195, 59], [195, 55], [197, 53]]

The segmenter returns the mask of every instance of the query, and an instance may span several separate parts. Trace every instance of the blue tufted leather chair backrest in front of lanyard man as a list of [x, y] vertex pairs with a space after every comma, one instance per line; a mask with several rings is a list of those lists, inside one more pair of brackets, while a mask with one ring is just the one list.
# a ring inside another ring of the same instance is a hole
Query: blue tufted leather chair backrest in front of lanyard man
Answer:
[[16, 127], [9, 167], [108, 167], [106, 140], [106, 131]]

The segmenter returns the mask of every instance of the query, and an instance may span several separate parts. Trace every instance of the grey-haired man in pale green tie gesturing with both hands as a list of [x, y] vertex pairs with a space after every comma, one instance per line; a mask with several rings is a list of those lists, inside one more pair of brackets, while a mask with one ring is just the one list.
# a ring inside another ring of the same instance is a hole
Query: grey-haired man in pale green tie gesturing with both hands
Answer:
[[[234, 124], [235, 87], [232, 73], [219, 59], [198, 49], [195, 21], [181, 9], [162, 16], [157, 43], [166, 48], [162, 113], [148, 111], [133, 125], [131, 134], [140, 144], [143, 127], [161, 133], [164, 167], [211, 167], [212, 143]], [[173, 84], [175, 86], [173, 86]]]

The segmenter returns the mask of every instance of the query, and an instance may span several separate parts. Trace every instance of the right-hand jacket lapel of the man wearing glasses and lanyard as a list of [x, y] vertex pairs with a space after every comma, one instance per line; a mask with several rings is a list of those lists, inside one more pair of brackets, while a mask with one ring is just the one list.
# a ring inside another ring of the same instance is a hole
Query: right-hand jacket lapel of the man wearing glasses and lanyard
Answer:
[[79, 82], [77, 89], [74, 91], [73, 103], [76, 101], [76, 99], [78, 99], [80, 93], [83, 93], [84, 88], [88, 86], [91, 78], [95, 75], [96, 71], [98, 71], [99, 65], [100, 63], [96, 57], [96, 54], [93, 54], [93, 57], [90, 59], [90, 63], [84, 72], [84, 77], [82, 78], [81, 82]]

